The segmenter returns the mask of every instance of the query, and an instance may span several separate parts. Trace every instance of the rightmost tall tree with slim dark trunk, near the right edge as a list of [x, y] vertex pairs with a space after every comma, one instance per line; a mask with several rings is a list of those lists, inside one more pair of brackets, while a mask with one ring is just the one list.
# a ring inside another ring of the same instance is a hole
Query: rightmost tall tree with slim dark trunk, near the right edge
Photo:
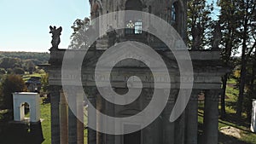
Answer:
[[237, 101], [236, 115], [241, 118], [246, 78], [247, 78], [247, 61], [255, 49], [256, 43], [253, 39], [253, 22], [255, 22], [255, 0], [237, 0], [236, 14], [239, 24], [239, 38], [241, 38], [241, 77], [239, 79], [239, 95]]

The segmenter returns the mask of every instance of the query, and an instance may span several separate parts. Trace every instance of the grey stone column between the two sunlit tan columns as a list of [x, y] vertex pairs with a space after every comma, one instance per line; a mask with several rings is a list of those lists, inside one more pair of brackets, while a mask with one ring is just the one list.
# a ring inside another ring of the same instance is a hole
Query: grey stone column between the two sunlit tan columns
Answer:
[[[77, 94], [76, 89], [70, 88], [67, 91], [68, 107], [68, 144], [77, 144]], [[72, 106], [72, 107], [71, 107]]]

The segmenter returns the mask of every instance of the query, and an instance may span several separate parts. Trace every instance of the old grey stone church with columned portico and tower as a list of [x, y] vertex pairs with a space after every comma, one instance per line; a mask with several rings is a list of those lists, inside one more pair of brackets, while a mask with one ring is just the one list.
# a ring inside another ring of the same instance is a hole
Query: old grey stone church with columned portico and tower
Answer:
[[[147, 12], [159, 16], [166, 20], [178, 32], [178, 34], [186, 40], [186, 1], [183, 0], [90, 0], [91, 19], [119, 10], [137, 10]], [[116, 15], [113, 15], [114, 19]], [[129, 23], [132, 23], [129, 25]], [[104, 24], [108, 25], [108, 24]], [[141, 26], [143, 22], [138, 18], [125, 17], [125, 26], [131, 26], [127, 29], [117, 31], [115, 36], [109, 36], [107, 33], [96, 41], [92, 47], [93, 50], [88, 51], [89, 60], [84, 60], [82, 74], [86, 75], [82, 79], [84, 91], [87, 93], [89, 100], [100, 111], [116, 117], [125, 117], [136, 114], [142, 111], [150, 101], [150, 96], [153, 94], [151, 86], [143, 87], [140, 99], [133, 102], [127, 107], [114, 106], [102, 99], [96, 90], [95, 83], [91, 82], [89, 76], [92, 69], [96, 66], [98, 59], [104, 50], [108, 49], [114, 43], [125, 42], [128, 40], [146, 43], [155, 49], [162, 57], [165, 58], [168, 70], [173, 73], [172, 78], [178, 78], [178, 68], [173, 64], [175, 57], [168, 50], [165, 50], [165, 45], [160, 43], [156, 37], [148, 42], [148, 34], [143, 32]], [[109, 27], [109, 26], [108, 26]], [[96, 28], [96, 27], [94, 27]], [[118, 36], [118, 41], [116, 40]], [[114, 38], [113, 38], [114, 37]], [[79, 49], [83, 50], [83, 49]], [[84, 143], [84, 124], [82, 124], [76, 114], [70, 108], [67, 109], [67, 102], [64, 99], [64, 93], [61, 85], [61, 65], [66, 49], [52, 49], [49, 60], [49, 84], [50, 84], [50, 102], [51, 102], [51, 142], [52, 144], [69, 143], [82, 144]], [[78, 51], [78, 49], [76, 49]], [[114, 55], [114, 54], [113, 54]], [[107, 135], [96, 130], [88, 128], [89, 144], [197, 144], [198, 138], [198, 95], [205, 95], [204, 107], [204, 122], [203, 136], [201, 143], [217, 144], [218, 143], [218, 99], [221, 88], [221, 76], [226, 72], [226, 68], [222, 66], [219, 50], [198, 50], [189, 49], [189, 55], [192, 59], [194, 68], [194, 86], [190, 96], [189, 104], [183, 114], [175, 121], [170, 122], [169, 117], [172, 108], [177, 100], [179, 91], [179, 82], [173, 82], [169, 100], [166, 108], [160, 113], [160, 116], [149, 124], [143, 130], [126, 134], [126, 135]], [[75, 55], [74, 57], [75, 58]], [[72, 60], [73, 58], [70, 58]], [[174, 62], [175, 63], [175, 62]], [[143, 77], [148, 70], [146, 66], [138, 64], [136, 61], [128, 61], [130, 66], [128, 72], [124, 70], [127, 63], [119, 64], [113, 69], [113, 72], [119, 72], [120, 77], [137, 75]], [[174, 65], [174, 66], [173, 66]], [[132, 68], [131, 68], [132, 67]], [[150, 75], [150, 74], [149, 74]], [[88, 77], [87, 77], [88, 76]], [[63, 77], [62, 77], [63, 78]], [[69, 76], [69, 78], [77, 78], [77, 76]], [[119, 82], [119, 79], [111, 79], [114, 85], [113, 89], [124, 94], [126, 87], [125, 82]], [[143, 80], [143, 83], [152, 83], [150, 80]], [[76, 85], [70, 85], [73, 90], [76, 90]], [[79, 93], [79, 91], [78, 91]], [[68, 95], [68, 94], [67, 94]], [[78, 94], [79, 95], [79, 94]], [[78, 111], [83, 109], [83, 100], [77, 95], [68, 95], [72, 99], [79, 101], [77, 103]], [[90, 109], [90, 107], [88, 107]], [[97, 118], [96, 113], [88, 113], [88, 123], [91, 122], [90, 117]], [[100, 119], [100, 118], [98, 118]], [[97, 126], [101, 126], [101, 121], [97, 122]], [[130, 124], [130, 126], [134, 126]]]

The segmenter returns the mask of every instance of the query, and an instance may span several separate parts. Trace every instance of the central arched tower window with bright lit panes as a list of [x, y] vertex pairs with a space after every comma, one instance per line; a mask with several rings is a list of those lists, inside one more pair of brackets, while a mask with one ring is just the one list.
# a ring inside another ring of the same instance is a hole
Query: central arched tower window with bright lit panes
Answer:
[[[140, 0], [128, 0], [125, 10], [143, 10], [143, 3]], [[143, 33], [143, 21], [141, 15], [125, 14], [125, 34], [134, 35]]]

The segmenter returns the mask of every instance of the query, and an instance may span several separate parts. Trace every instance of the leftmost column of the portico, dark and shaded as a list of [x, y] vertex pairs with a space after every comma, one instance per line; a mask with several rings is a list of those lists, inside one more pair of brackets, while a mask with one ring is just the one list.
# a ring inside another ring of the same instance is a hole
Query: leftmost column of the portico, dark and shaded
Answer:
[[51, 143], [60, 144], [60, 86], [52, 85], [49, 89], [50, 95], [50, 115], [51, 115]]

